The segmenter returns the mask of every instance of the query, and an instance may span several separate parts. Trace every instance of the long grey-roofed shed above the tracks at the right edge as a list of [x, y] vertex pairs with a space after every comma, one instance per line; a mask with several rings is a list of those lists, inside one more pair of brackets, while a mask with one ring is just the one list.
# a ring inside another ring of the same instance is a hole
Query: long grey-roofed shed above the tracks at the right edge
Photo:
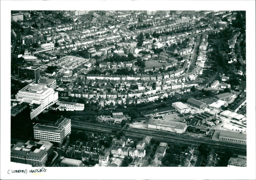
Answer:
[[246, 134], [243, 134], [243, 133], [236, 133], [236, 132], [231, 132], [231, 131], [221, 131], [219, 139], [221, 141], [246, 144]]

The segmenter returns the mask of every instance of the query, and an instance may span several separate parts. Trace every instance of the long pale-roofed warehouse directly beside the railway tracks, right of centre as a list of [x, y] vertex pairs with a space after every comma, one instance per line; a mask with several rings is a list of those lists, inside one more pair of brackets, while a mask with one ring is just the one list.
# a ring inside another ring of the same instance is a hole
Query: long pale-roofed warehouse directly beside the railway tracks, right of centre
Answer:
[[184, 133], [187, 124], [173, 121], [166, 121], [161, 119], [149, 119], [148, 128], [160, 129], [164, 131], [170, 131], [173, 133]]

